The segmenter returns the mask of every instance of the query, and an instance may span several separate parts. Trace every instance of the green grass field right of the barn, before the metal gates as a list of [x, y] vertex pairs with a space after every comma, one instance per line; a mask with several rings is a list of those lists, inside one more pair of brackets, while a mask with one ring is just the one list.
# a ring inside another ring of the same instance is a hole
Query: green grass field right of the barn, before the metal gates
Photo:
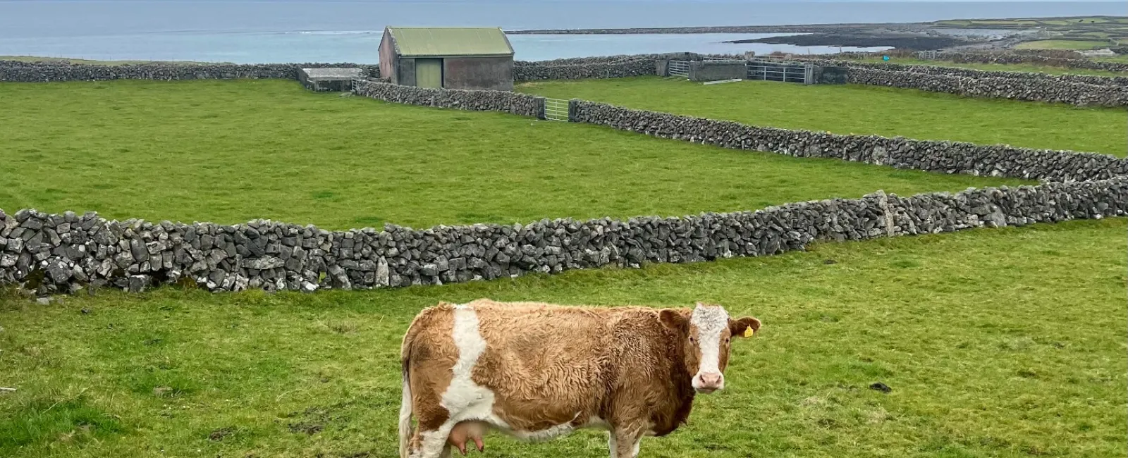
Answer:
[[925, 140], [1008, 143], [1125, 156], [1125, 109], [976, 99], [873, 86], [742, 81], [704, 86], [658, 77], [527, 82], [519, 90], [755, 125]]

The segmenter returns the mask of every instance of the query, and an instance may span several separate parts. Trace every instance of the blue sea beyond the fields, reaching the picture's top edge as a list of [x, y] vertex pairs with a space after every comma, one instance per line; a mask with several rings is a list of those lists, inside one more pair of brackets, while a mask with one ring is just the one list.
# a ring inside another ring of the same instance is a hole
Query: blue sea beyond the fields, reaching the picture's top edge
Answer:
[[[0, 55], [203, 62], [378, 61], [385, 26], [544, 28], [915, 23], [1126, 15], [1113, 1], [0, 0]], [[887, 47], [731, 44], [790, 34], [510, 35], [518, 60]]]

